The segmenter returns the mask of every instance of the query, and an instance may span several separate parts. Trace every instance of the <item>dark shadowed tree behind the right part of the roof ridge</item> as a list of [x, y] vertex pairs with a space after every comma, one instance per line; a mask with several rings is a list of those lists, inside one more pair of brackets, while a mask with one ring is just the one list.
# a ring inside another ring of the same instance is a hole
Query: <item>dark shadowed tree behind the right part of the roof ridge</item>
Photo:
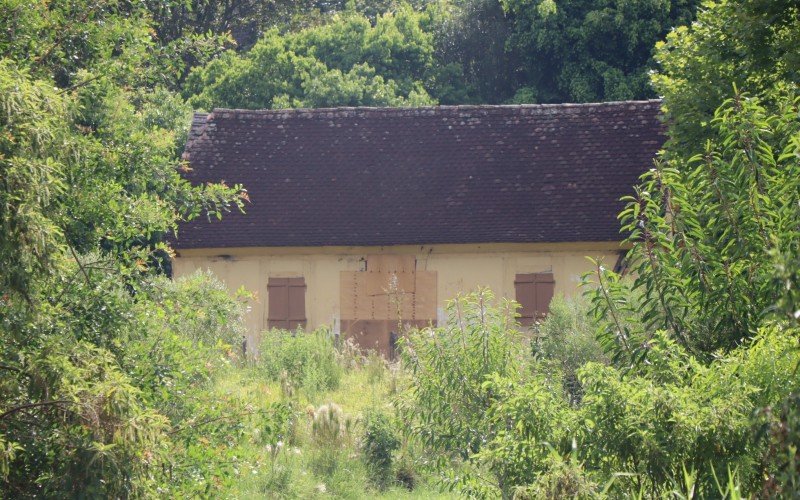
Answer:
[[501, 0], [513, 16], [508, 46], [523, 58], [517, 101], [655, 97], [653, 46], [691, 22], [699, 0]]

